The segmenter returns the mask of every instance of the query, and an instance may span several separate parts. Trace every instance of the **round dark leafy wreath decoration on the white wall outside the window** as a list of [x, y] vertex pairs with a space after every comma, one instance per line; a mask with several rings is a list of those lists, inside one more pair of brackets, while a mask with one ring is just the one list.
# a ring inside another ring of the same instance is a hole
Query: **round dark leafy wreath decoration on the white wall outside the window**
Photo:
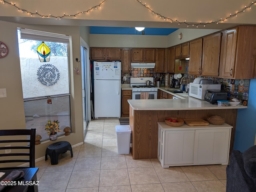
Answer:
[[45, 86], [54, 85], [60, 78], [59, 70], [51, 64], [44, 64], [37, 71], [37, 79]]

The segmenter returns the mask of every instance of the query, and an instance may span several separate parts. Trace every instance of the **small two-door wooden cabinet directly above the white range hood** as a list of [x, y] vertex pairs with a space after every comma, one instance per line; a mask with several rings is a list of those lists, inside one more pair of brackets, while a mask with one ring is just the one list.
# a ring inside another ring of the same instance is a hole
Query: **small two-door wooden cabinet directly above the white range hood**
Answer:
[[132, 63], [154, 63], [155, 60], [155, 49], [132, 49]]

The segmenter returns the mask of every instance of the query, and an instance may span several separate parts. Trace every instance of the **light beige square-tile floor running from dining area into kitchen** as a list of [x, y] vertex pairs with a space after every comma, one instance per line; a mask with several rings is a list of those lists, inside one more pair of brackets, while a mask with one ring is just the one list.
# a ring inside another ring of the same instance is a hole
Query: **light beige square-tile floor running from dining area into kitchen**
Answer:
[[158, 159], [118, 155], [118, 120], [92, 120], [84, 145], [58, 158], [39, 161], [42, 192], [225, 192], [226, 165], [162, 168]]

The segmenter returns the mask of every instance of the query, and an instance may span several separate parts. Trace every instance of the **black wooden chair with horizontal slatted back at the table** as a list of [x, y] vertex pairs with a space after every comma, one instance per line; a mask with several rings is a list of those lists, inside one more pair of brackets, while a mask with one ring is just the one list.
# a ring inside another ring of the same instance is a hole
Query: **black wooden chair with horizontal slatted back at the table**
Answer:
[[[19, 139], [22, 135], [27, 139]], [[35, 167], [35, 138], [36, 129], [0, 130], [0, 163], [29, 163], [29, 167]], [[5, 153], [9, 149], [13, 152]]]

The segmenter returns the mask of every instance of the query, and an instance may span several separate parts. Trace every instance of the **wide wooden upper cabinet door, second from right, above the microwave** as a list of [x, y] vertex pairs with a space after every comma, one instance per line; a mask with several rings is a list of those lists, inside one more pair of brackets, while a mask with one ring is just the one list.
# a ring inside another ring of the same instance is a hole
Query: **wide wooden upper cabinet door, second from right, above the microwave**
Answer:
[[218, 76], [220, 60], [221, 33], [216, 33], [204, 38], [202, 75]]

